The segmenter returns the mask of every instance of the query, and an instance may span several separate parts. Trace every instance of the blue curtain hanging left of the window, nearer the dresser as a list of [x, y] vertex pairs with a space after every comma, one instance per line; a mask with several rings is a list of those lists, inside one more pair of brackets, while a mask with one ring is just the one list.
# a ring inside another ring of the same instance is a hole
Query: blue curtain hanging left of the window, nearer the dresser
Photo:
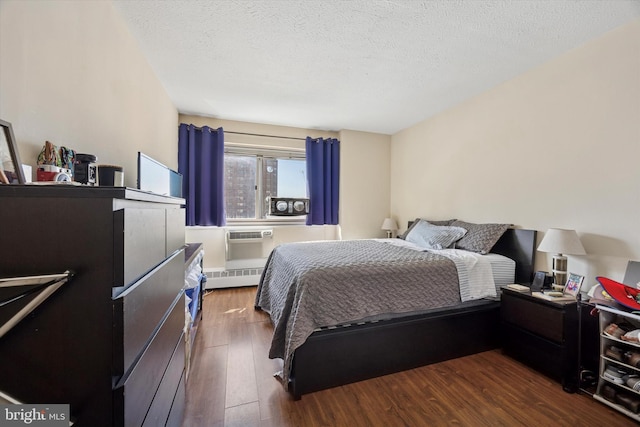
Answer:
[[187, 201], [187, 225], [225, 225], [222, 128], [180, 124], [178, 172]]

